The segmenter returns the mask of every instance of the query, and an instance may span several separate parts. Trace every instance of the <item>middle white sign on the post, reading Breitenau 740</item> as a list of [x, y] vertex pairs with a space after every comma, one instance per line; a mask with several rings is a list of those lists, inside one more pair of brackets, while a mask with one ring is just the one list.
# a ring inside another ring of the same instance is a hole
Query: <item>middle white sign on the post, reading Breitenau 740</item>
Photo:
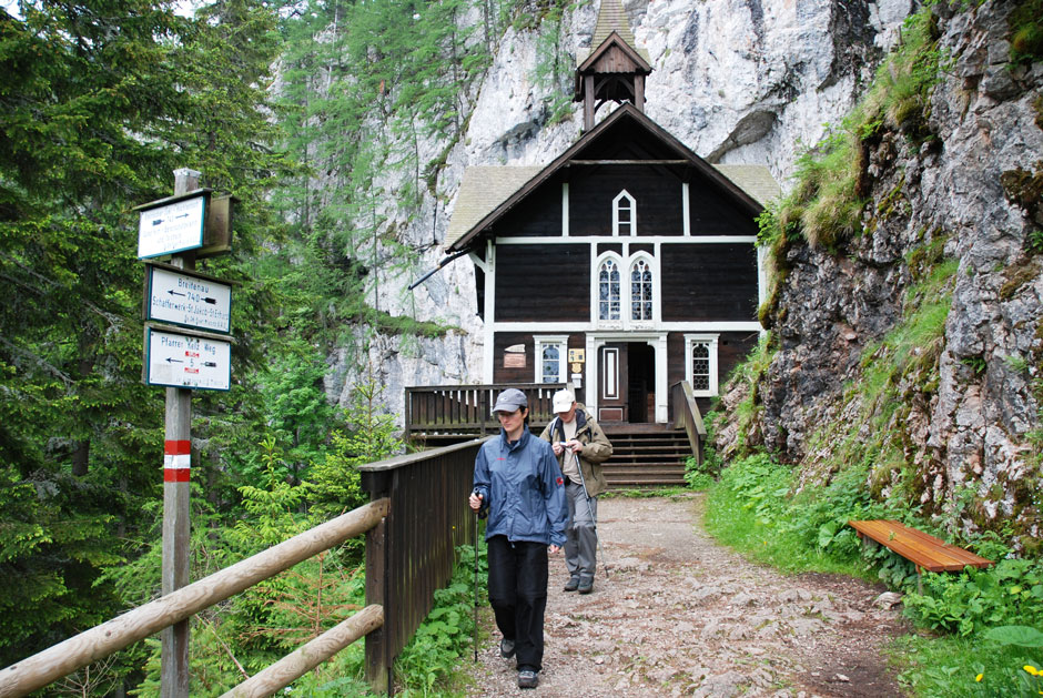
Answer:
[[146, 320], [213, 332], [232, 331], [232, 286], [148, 265]]

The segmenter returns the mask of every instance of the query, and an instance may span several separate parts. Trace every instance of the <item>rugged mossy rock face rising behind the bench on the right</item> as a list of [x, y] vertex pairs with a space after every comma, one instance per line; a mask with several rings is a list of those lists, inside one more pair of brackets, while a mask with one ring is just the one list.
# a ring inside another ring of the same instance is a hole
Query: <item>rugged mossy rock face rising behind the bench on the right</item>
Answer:
[[1043, 176], [1043, 65], [1010, 65], [1011, 7], [940, 18], [941, 50], [955, 60], [930, 103], [936, 138], [890, 133], [874, 145], [869, 232], [840, 254], [790, 251], [760, 426], [766, 446], [813, 471], [828, 445], [811, 447], [810, 437], [827, 415], [858, 414], [843, 386], [863, 378], [867, 347], [901, 321], [918, 251], [943, 244], [956, 264], [944, 334], [917, 348], [922, 368], [903, 376], [900, 418], [887, 428], [918, 471], [925, 512], [951, 513], [970, 495], [981, 512], [962, 525], [1013, 517], [1019, 544], [1040, 535], [1031, 434], [1043, 356], [1043, 260], [1032, 239], [1041, 201], [1037, 189], [1026, 200], [1004, 182]]

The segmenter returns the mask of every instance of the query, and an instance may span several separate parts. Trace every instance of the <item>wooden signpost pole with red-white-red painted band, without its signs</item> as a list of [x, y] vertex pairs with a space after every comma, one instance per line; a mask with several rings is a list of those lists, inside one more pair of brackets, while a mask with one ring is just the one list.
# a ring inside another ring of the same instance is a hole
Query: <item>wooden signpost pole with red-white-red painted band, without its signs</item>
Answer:
[[[174, 171], [174, 195], [199, 189], [200, 173]], [[171, 255], [170, 263], [195, 269], [195, 251]], [[192, 391], [166, 388], [166, 435], [163, 449], [163, 595], [189, 585], [189, 475], [192, 459]], [[189, 698], [189, 620], [162, 633], [162, 698]]]

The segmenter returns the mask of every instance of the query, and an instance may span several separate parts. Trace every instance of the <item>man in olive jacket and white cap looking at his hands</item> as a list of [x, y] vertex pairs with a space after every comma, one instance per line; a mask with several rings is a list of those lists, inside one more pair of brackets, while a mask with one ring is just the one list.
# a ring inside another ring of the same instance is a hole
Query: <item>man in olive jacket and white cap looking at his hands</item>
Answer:
[[557, 416], [539, 437], [550, 443], [565, 476], [565, 564], [569, 574], [565, 590], [589, 594], [597, 568], [598, 495], [607, 488], [601, 463], [612, 455], [612, 444], [569, 391], [555, 393], [553, 405]]

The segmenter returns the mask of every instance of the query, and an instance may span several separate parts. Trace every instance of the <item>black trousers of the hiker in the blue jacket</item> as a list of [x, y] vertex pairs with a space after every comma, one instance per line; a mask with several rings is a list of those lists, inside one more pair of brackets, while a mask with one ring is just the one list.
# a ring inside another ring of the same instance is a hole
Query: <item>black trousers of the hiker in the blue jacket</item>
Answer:
[[496, 627], [515, 643], [518, 669], [539, 671], [544, 660], [544, 610], [547, 608], [547, 546], [488, 540], [489, 604]]

